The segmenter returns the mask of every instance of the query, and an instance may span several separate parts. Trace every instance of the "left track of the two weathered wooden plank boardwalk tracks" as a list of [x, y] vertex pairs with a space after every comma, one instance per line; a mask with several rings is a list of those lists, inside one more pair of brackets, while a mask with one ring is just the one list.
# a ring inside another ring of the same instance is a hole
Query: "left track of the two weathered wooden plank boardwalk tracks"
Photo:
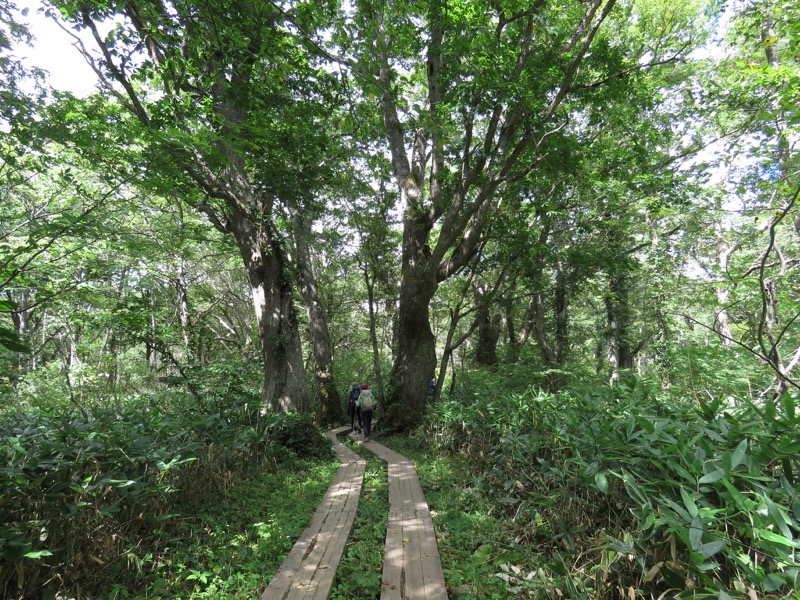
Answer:
[[340, 427], [327, 435], [342, 463], [311, 523], [275, 573], [261, 600], [327, 600], [353, 527], [366, 461], [342, 444]]

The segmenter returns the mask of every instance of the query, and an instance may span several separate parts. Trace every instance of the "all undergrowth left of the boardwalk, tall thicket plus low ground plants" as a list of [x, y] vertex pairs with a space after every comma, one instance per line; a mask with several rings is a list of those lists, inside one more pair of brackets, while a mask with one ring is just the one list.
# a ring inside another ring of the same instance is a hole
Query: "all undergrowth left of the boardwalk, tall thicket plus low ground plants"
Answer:
[[3, 415], [0, 596], [249, 598], [266, 587], [339, 463], [308, 418], [239, 400]]

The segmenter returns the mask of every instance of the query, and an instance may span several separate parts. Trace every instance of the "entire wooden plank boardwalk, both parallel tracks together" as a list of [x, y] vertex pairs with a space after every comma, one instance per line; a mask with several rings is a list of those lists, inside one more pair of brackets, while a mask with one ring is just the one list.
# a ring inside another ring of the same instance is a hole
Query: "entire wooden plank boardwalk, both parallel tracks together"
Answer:
[[[364, 460], [336, 437], [348, 432], [345, 426], [326, 434], [342, 466], [261, 600], [326, 600], [330, 596], [364, 481]], [[356, 441], [359, 437], [352, 436]], [[389, 471], [381, 600], [447, 600], [433, 522], [414, 463], [376, 442], [363, 447], [385, 460]]]

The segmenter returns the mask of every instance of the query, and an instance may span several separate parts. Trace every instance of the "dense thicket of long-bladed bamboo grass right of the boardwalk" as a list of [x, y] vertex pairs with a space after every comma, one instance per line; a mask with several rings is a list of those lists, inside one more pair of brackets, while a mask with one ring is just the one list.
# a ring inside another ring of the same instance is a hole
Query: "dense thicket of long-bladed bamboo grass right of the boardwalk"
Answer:
[[514, 585], [744, 597], [800, 576], [798, 421], [791, 399], [684, 403], [630, 380], [442, 403], [427, 431], [479, 467], [516, 539], [550, 555], [507, 567]]

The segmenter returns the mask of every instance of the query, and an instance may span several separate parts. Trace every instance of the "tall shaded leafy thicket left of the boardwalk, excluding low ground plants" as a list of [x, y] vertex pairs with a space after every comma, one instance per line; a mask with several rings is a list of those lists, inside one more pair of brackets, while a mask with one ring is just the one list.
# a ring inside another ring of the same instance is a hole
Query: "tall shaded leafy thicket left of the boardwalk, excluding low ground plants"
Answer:
[[140, 546], [177, 515], [176, 501], [224, 497], [243, 474], [329, 455], [308, 419], [164, 400], [4, 415], [0, 588], [135, 581], [153, 560]]

